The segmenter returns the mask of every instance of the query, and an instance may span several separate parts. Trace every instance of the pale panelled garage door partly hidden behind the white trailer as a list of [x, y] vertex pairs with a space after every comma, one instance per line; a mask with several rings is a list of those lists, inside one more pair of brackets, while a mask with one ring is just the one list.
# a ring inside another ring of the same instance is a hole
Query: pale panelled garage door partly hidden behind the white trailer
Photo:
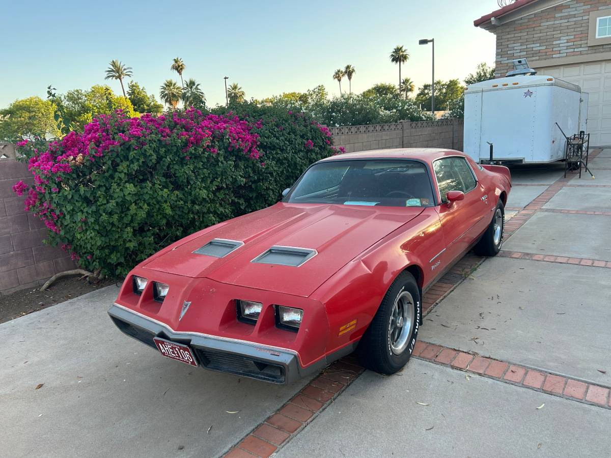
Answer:
[[572, 82], [588, 92], [590, 144], [611, 145], [611, 60], [545, 67], [539, 73]]

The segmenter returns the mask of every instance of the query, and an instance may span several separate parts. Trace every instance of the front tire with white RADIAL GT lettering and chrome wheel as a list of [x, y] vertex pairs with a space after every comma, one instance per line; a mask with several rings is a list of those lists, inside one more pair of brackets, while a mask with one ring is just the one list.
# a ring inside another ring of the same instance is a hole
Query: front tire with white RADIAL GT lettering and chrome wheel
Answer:
[[357, 349], [360, 363], [387, 375], [403, 368], [414, 351], [420, 313], [418, 285], [411, 274], [403, 272], [390, 285], [360, 340]]

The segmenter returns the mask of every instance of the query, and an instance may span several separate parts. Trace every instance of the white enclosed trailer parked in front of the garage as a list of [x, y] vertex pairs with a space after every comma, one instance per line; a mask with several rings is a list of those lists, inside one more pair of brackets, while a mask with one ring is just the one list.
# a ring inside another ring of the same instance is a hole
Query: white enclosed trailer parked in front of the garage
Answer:
[[565, 157], [565, 137], [587, 132], [588, 94], [561, 79], [518, 75], [467, 86], [464, 152], [476, 162], [552, 162]]

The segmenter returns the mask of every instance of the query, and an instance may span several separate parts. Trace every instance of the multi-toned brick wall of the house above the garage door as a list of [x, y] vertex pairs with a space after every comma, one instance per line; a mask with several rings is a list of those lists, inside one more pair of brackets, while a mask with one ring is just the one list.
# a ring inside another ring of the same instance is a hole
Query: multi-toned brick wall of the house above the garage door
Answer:
[[[533, 7], [538, 2], [534, 3]], [[546, 2], [540, 3], [544, 7]], [[499, 26], [482, 25], [496, 35], [496, 78], [513, 70], [511, 61], [522, 57], [536, 69], [554, 65], [550, 59], [611, 53], [611, 43], [592, 44], [588, 40], [590, 13], [606, 9], [611, 11], [609, 0], [571, 0]]]

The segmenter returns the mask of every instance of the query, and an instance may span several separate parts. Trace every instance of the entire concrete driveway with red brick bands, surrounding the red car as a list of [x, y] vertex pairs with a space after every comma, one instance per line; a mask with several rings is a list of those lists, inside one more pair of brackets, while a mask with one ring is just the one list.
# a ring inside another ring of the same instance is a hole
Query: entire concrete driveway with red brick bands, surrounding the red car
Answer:
[[395, 376], [351, 357], [287, 387], [191, 369], [114, 328], [114, 286], [2, 324], [0, 454], [607, 456], [610, 160], [596, 180], [512, 170], [502, 252], [430, 289]]

